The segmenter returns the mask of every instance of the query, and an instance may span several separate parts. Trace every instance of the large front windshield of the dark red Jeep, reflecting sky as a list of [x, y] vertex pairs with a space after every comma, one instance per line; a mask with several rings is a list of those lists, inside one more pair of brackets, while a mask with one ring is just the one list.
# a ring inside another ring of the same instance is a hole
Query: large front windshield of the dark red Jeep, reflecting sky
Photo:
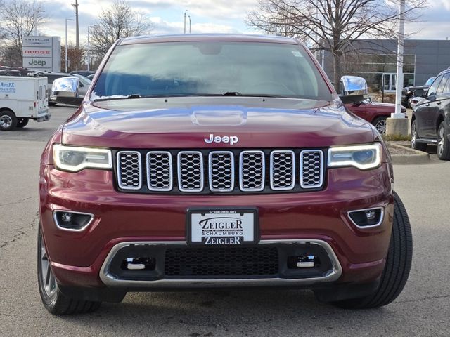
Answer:
[[117, 46], [91, 99], [130, 95], [331, 100], [326, 82], [301, 46], [229, 41]]

